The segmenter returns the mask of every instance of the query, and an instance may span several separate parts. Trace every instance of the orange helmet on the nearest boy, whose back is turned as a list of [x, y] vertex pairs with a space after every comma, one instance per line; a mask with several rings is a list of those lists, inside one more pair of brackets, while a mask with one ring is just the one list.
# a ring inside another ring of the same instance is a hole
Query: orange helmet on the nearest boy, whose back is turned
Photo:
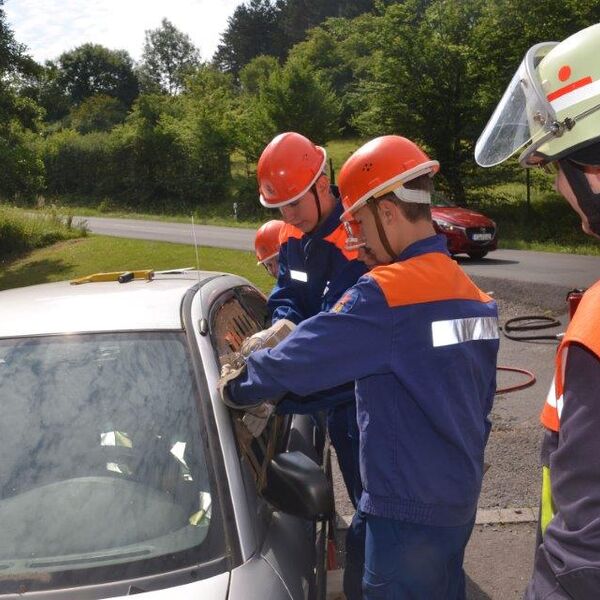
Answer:
[[383, 196], [421, 175], [433, 177], [439, 168], [437, 160], [430, 160], [414, 142], [399, 135], [384, 135], [367, 142], [340, 170], [338, 185], [344, 205], [341, 220], [347, 220], [369, 198]]

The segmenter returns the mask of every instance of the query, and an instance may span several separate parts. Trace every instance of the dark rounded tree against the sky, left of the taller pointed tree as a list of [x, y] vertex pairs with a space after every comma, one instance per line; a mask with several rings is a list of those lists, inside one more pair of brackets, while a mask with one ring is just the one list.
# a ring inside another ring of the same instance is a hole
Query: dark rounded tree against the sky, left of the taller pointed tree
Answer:
[[139, 82], [129, 54], [98, 44], [83, 44], [61, 54], [56, 76], [72, 104], [103, 94], [129, 108], [139, 94]]

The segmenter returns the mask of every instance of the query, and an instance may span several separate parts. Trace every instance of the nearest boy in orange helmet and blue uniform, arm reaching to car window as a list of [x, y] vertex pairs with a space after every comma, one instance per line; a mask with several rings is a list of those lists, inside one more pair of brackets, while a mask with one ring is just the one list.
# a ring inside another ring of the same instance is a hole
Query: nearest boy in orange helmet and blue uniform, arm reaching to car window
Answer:
[[380, 266], [329, 312], [226, 369], [221, 387], [224, 401], [239, 407], [356, 380], [367, 600], [465, 596], [463, 553], [490, 431], [498, 318], [494, 300], [434, 233], [438, 168], [399, 136], [374, 139], [348, 159], [339, 176], [342, 218]]

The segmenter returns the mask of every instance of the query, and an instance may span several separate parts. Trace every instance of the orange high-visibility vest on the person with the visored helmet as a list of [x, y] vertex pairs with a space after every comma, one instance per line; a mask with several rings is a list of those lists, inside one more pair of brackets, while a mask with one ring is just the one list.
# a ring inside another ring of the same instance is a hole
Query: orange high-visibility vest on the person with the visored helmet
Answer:
[[[573, 319], [556, 353], [554, 379], [540, 415], [542, 425], [559, 433], [560, 417], [564, 404], [564, 378], [569, 346], [581, 344], [600, 359], [600, 281], [597, 281], [583, 295]], [[542, 466], [542, 493], [540, 507], [540, 528], [542, 534], [554, 517], [556, 508], [552, 499], [550, 466]]]

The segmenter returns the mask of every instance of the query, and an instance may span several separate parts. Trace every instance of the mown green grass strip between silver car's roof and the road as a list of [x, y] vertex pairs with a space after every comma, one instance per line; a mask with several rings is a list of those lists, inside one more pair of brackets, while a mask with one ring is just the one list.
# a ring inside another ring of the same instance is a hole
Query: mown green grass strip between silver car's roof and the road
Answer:
[[[251, 252], [199, 248], [200, 268], [241, 275], [267, 293], [273, 280], [256, 265]], [[194, 248], [183, 244], [88, 236], [34, 250], [8, 264], [0, 263], [0, 290], [62, 281], [105, 271], [192, 267]]]

